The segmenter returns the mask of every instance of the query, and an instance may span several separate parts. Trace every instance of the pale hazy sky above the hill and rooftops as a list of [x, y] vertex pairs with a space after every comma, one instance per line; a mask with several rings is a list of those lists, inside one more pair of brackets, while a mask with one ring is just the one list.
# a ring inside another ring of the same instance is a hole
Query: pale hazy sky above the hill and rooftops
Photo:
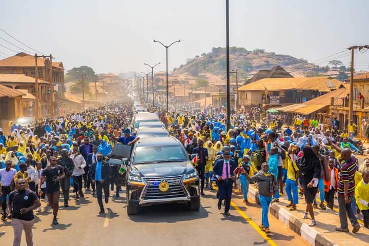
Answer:
[[[87, 65], [97, 73], [147, 71], [145, 62], [165, 70], [165, 48], [151, 40], [180, 38], [169, 49], [172, 70], [226, 45], [225, 7], [225, 0], [1, 0], [0, 28], [52, 53], [66, 69]], [[230, 0], [230, 45], [315, 61], [369, 45], [368, 9], [367, 0]], [[0, 37], [24, 47], [1, 31]], [[0, 52], [14, 54], [1, 46]], [[369, 70], [369, 52], [355, 55], [356, 69]], [[339, 59], [349, 65], [348, 56]]]

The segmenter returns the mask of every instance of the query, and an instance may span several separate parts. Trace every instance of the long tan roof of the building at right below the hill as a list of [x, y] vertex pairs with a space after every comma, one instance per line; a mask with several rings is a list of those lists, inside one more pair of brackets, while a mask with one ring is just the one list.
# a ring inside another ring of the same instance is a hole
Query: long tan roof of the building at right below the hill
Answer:
[[326, 76], [309, 78], [263, 78], [238, 88], [241, 91], [285, 91], [285, 90], [315, 90], [330, 92], [338, 89], [341, 82]]

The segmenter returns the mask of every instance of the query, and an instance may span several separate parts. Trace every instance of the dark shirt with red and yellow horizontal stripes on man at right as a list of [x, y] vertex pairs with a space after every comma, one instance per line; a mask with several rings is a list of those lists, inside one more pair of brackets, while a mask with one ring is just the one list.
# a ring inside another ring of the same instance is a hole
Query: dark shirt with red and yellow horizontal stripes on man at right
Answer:
[[342, 164], [338, 174], [338, 196], [344, 196], [344, 183], [348, 182], [347, 196], [352, 196], [355, 193], [355, 172], [357, 171], [357, 161], [351, 157]]

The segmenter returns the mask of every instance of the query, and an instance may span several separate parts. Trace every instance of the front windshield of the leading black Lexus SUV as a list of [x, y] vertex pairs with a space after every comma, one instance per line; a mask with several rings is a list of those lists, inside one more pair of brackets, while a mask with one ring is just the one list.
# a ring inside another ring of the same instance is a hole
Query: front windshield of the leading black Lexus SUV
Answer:
[[187, 161], [187, 155], [180, 146], [137, 147], [134, 164], [161, 161]]

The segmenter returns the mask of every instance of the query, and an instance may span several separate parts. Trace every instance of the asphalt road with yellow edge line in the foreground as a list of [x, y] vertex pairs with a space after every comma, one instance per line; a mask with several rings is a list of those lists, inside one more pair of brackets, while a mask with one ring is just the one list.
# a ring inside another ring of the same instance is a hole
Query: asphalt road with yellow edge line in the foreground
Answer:
[[[77, 201], [72, 195], [70, 207], [59, 210], [57, 226], [51, 225], [52, 210], [42, 201], [42, 212], [35, 212], [34, 245], [308, 245], [271, 215], [272, 234], [265, 236], [257, 229], [261, 208], [256, 203], [246, 207], [239, 193], [233, 196], [230, 217], [216, 208], [214, 192], [205, 193], [199, 211], [166, 204], [144, 208], [134, 216], [127, 216], [124, 192], [119, 198], [110, 196], [105, 215], [98, 215], [97, 200], [89, 193]], [[12, 245], [12, 240], [10, 221], [0, 222], [0, 244]]]

